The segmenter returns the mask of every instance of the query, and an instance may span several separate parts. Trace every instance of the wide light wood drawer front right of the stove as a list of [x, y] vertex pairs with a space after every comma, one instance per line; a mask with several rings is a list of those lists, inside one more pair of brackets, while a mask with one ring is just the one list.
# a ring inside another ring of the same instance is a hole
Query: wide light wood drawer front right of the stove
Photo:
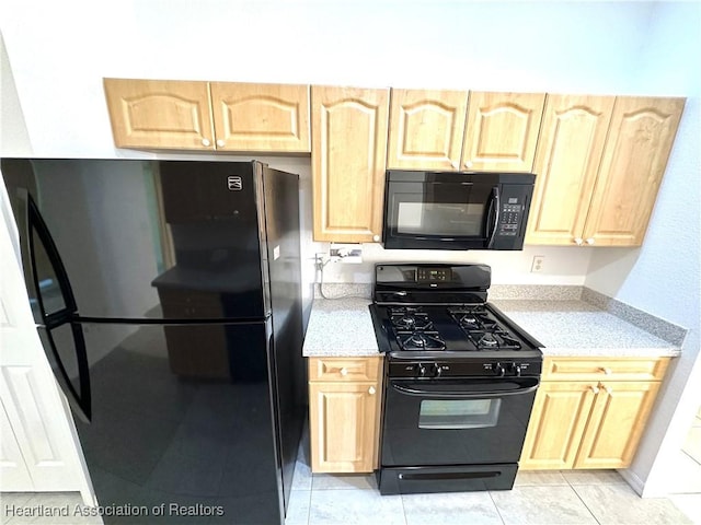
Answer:
[[662, 381], [669, 358], [544, 358], [543, 381]]

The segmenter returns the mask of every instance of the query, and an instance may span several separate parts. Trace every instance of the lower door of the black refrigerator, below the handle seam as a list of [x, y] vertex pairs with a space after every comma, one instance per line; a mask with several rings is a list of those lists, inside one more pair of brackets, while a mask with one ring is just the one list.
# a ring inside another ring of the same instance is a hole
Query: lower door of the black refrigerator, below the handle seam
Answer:
[[104, 523], [281, 525], [269, 319], [114, 328], [76, 424]]

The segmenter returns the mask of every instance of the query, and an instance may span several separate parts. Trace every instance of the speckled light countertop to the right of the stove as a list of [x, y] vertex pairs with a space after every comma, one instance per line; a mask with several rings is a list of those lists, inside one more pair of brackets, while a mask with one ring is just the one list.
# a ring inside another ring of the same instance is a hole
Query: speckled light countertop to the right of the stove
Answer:
[[674, 346], [585, 301], [491, 301], [544, 348], [544, 355], [679, 355]]

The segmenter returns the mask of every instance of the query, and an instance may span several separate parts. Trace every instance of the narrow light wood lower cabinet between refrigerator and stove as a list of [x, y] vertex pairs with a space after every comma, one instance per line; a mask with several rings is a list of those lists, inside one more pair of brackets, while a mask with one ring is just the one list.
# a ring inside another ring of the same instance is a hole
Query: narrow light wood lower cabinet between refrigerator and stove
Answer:
[[377, 468], [381, 377], [381, 358], [309, 358], [313, 472]]

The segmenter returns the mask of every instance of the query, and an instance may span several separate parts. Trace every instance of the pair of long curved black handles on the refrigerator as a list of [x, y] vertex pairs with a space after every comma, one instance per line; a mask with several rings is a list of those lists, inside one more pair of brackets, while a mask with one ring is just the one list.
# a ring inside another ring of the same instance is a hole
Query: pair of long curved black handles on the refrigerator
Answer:
[[22, 192], [25, 240], [25, 280], [34, 291], [32, 311], [44, 351], [73, 411], [91, 418], [90, 374], [85, 340], [80, 325], [72, 323], [76, 300], [61, 258], [32, 197]]

